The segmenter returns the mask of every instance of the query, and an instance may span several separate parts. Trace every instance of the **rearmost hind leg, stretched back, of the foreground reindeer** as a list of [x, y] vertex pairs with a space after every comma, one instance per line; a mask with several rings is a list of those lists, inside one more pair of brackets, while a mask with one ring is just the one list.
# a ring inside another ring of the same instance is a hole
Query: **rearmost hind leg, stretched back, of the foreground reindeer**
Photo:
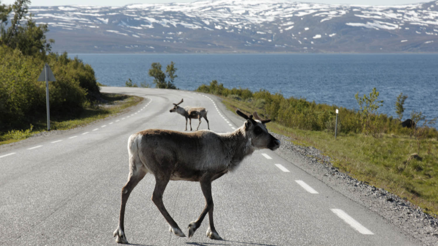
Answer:
[[[131, 162], [132, 160], [130, 160]], [[126, 202], [131, 194], [131, 191], [134, 190], [134, 187], [140, 182], [141, 179], [147, 173], [144, 166], [141, 163], [136, 166], [133, 162], [130, 163], [130, 170], [128, 175], [128, 181], [122, 188], [122, 204], [120, 205], [120, 216], [119, 216], [119, 225], [117, 229], [114, 231], [113, 236], [116, 237], [116, 242], [118, 243], [128, 243], [125, 233], [124, 233], [124, 218], [125, 218], [125, 207]]]

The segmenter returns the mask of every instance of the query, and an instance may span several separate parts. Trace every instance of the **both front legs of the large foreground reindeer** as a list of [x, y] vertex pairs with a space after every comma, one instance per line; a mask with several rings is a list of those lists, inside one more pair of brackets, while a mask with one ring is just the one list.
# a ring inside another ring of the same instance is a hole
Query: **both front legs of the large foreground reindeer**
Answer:
[[[205, 207], [204, 210], [202, 211], [201, 215], [199, 215], [199, 218], [196, 221], [191, 221], [188, 228], [189, 228], [189, 239], [191, 239], [191, 237], [193, 236], [194, 232], [199, 228], [199, 226], [202, 223], [202, 220], [204, 220], [205, 215], [209, 214], [210, 217], [210, 227], [212, 227], [212, 219], [213, 219], [213, 198], [212, 198], [212, 182], [210, 181], [210, 179], [208, 179], [208, 181], [200, 181], [201, 184], [201, 190], [202, 193], [204, 193], [204, 197], [205, 197]], [[211, 215], [210, 215], [211, 213]], [[217, 232], [215, 231], [215, 228], [213, 226], [212, 229], [215, 234], [217, 235], [216, 238], [212, 238], [210, 236], [210, 238], [212, 239], [222, 239], [219, 237], [219, 235], [217, 234]]]

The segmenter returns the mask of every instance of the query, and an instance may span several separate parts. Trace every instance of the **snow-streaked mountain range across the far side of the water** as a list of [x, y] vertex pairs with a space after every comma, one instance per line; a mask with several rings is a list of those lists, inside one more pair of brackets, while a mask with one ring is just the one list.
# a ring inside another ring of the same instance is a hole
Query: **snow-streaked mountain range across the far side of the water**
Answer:
[[438, 52], [438, 1], [392, 6], [207, 0], [30, 7], [69, 53]]

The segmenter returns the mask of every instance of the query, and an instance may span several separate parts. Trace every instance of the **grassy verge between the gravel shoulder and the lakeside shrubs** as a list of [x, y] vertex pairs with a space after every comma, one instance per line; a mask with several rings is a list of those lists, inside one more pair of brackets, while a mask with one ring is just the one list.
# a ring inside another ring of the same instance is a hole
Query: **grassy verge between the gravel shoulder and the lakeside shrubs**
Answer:
[[[251, 103], [223, 97], [232, 111], [257, 111]], [[350, 176], [383, 188], [421, 207], [424, 212], [438, 214], [438, 141], [421, 142], [420, 158], [417, 141], [406, 135], [384, 134], [380, 138], [363, 134], [338, 134], [325, 131], [299, 130], [278, 123], [267, 124], [269, 130], [291, 137], [294, 144], [313, 146], [333, 158], [333, 165]]]

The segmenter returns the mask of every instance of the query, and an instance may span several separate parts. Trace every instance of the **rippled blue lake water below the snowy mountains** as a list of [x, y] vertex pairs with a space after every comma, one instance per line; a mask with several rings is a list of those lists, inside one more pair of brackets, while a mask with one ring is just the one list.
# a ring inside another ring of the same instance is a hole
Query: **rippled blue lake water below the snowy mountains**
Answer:
[[[377, 88], [384, 100], [379, 113], [396, 117], [395, 103], [403, 92], [403, 119], [415, 110], [427, 119], [438, 116], [437, 54], [70, 54], [90, 64], [102, 84], [124, 86], [152, 83], [148, 70], [171, 61], [177, 68], [175, 85], [195, 90], [212, 80], [226, 88], [266, 89], [284, 97], [358, 109], [354, 95]], [[434, 127], [437, 127], [435, 124]]]

